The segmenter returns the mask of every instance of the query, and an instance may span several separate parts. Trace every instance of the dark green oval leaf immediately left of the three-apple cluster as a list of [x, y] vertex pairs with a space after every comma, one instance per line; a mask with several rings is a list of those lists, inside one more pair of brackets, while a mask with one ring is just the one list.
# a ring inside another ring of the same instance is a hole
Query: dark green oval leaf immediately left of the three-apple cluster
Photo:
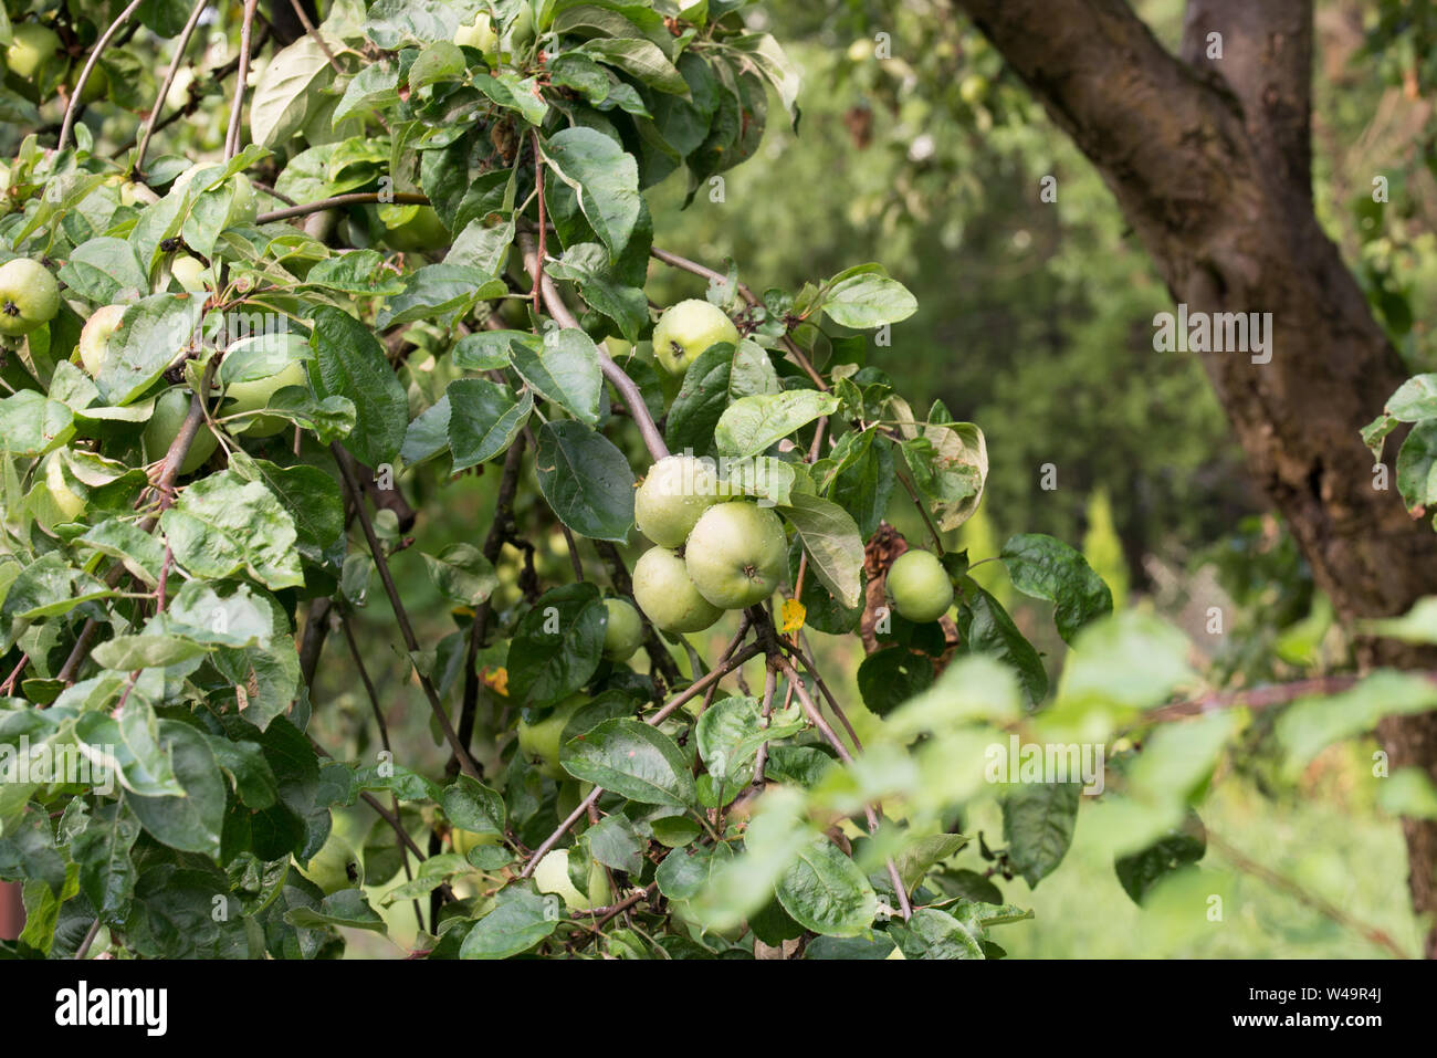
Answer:
[[573, 420], [545, 423], [535, 469], [553, 513], [573, 532], [591, 540], [628, 540], [634, 472], [612, 441]]

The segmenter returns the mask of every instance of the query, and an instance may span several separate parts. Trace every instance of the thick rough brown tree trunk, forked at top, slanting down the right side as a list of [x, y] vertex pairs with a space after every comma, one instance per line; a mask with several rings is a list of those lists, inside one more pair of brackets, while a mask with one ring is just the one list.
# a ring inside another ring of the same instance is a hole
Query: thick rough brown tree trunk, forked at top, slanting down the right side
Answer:
[[[1181, 59], [1125, 0], [953, 3], [1102, 174], [1175, 302], [1272, 313], [1270, 362], [1213, 352], [1203, 364], [1338, 612], [1392, 615], [1437, 594], [1437, 533], [1414, 525], [1395, 487], [1374, 487], [1358, 438], [1407, 372], [1313, 214], [1311, 0], [1190, 0]], [[1430, 651], [1391, 641], [1359, 653], [1364, 666], [1433, 667]], [[1391, 768], [1437, 781], [1437, 713], [1390, 719], [1378, 737]], [[1437, 957], [1437, 824], [1403, 828]]]

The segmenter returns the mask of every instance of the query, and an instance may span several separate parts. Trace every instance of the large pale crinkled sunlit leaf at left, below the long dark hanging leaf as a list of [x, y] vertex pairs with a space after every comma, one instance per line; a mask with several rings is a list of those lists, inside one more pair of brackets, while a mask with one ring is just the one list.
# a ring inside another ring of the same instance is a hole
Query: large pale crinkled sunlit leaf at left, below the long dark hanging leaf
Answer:
[[187, 487], [160, 525], [175, 562], [191, 576], [223, 579], [244, 571], [274, 589], [305, 582], [295, 522], [269, 489], [233, 470]]

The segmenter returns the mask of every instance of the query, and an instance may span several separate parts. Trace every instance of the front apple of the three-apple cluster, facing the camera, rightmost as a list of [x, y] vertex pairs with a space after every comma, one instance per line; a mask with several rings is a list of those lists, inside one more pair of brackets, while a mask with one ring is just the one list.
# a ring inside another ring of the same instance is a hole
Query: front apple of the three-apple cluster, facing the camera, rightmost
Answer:
[[769, 507], [734, 500], [710, 507], [688, 533], [684, 562], [698, 592], [723, 610], [763, 602], [783, 579], [789, 540]]

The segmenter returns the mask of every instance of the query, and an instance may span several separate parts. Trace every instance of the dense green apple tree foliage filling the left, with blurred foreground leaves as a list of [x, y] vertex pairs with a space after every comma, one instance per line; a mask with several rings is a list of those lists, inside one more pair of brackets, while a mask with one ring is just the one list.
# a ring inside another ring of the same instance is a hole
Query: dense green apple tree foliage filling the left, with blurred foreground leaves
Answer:
[[[981, 430], [915, 408], [885, 369], [910, 292], [875, 263], [762, 289], [662, 246], [648, 188], [685, 181], [701, 201], [766, 122], [800, 119], [798, 70], [747, 6], [336, 0], [289, 42], [253, 3], [0, 12], [0, 45], [30, 23], [62, 43], [0, 91], [33, 129], [3, 170], [0, 256], [62, 289], [0, 359], [0, 878], [27, 911], [7, 952], [325, 957], [336, 927], [384, 932], [382, 907], [422, 901], [430, 957], [993, 957], [996, 927], [1029, 916], [999, 883], [1055, 870], [1083, 799], [992, 775], [1019, 733], [1122, 750], [1083, 816], [1134, 900], [1203, 857], [1191, 804], [1239, 713], [1154, 724], [1134, 753], [1148, 710], [1203, 681], [1180, 632], [1111, 612], [1076, 551], [1022, 535], [974, 556], [1052, 602], [1071, 647], [1056, 686], [966, 553], [943, 556], [951, 618], [884, 605], [895, 490], [933, 529], [912, 545], [934, 546], [987, 474]], [[205, 14], [236, 58], [181, 101], [226, 144], [194, 171], [135, 147], [165, 99], [155, 114], [138, 89], [170, 88], [147, 72]], [[114, 19], [98, 105], [135, 137], [102, 150], [78, 75]], [[237, 66], [253, 73], [239, 111]], [[707, 277], [740, 335], [681, 378], [645, 348], [651, 267]], [[111, 305], [122, 323], [91, 372], [80, 332]], [[175, 390], [188, 414], [155, 450]], [[184, 472], [197, 437], [214, 451]], [[638, 543], [635, 480], [668, 451], [716, 457], [779, 513], [787, 585], [717, 657], [645, 627], [647, 653], [614, 661], [616, 546]], [[405, 494], [443, 503], [474, 470], [500, 479], [484, 546], [428, 549], [424, 503], [399, 525]], [[535, 578], [497, 602], [530, 480], [608, 584]], [[438, 641], [418, 638], [389, 568], [411, 543], [456, 607]], [[447, 770], [336, 759], [312, 737], [326, 635], [329, 664], [368, 684], [331, 634], [362, 610], [392, 622]], [[861, 746], [809, 631], [867, 644], [856, 683], [878, 722]], [[502, 664], [481, 678], [480, 657]], [[762, 686], [717, 691], [753, 658]], [[1346, 696], [1285, 714], [1293, 759], [1434, 704], [1391, 673]], [[556, 716], [556, 762], [517, 750], [520, 724]], [[476, 729], [494, 733], [484, 752]], [[994, 789], [992, 868], [957, 870], [966, 808]], [[336, 857], [332, 814], [359, 802], [376, 829]]]

